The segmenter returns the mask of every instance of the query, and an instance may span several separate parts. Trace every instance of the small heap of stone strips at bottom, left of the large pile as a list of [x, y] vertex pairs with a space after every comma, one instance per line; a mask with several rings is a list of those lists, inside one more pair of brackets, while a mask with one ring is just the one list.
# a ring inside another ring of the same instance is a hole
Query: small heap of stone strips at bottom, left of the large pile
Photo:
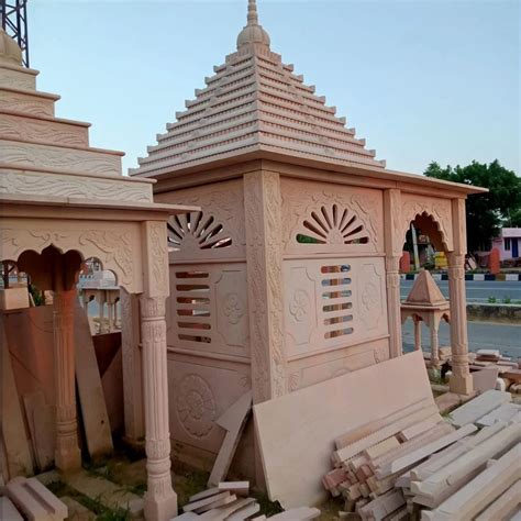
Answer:
[[[248, 481], [223, 481], [219, 486], [196, 494], [182, 508], [181, 516], [171, 521], [263, 521], [266, 516], [259, 516], [260, 506], [255, 498], [250, 498]], [[296, 508], [271, 516], [276, 521], [304, 521], [315, 519], [320, 510], [315, 508]]]

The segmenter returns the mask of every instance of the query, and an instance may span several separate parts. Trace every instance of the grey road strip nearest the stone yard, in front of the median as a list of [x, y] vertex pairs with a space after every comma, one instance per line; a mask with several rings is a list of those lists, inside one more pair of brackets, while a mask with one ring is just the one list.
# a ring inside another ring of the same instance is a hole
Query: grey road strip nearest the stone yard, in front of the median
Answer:
[[[492, 324], [489, 322], [467, 322], [468, 324], [468, 348], [499, 350], [505, 356], [521, 357], [521, 324]], [[412, 320], [408, 320], [402, 329], [403, 350], [414, 348], [414, 333]], [[440, 326], [440, 345], [451, 345], [448, 325], [442, 323]], [[430, 348], [430, 333], [425, 324], [422, 324], [422, 347]]]

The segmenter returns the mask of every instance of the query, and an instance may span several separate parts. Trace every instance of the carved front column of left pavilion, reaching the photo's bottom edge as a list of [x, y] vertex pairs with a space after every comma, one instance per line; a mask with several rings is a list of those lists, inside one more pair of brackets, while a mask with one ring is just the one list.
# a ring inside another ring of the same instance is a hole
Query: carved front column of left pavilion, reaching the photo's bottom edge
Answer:
[[143, 243], [144, 293], [140, 298], [140, 311], [147, 470], [145, 519], [167, 521], [177, 516], [177, 495], [171, 487], [168, 426], [166, 223], [144, 222]]

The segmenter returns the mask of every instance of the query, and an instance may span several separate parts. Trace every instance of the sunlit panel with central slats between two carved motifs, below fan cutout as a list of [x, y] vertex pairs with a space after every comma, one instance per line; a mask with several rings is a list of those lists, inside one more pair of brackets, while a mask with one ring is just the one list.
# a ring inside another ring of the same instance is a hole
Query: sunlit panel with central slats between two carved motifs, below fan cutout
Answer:
[[284, 280], [290, 359], [388, 334], [383, 257], [285, 260]]

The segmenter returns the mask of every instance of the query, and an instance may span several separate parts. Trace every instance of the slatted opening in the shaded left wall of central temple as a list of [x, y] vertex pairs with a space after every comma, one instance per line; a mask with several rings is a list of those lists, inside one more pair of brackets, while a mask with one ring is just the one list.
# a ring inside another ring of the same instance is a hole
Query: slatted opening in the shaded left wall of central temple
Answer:
[[175, 271], [179, 340], [211, 343], [210, 286], [207, 271]]

